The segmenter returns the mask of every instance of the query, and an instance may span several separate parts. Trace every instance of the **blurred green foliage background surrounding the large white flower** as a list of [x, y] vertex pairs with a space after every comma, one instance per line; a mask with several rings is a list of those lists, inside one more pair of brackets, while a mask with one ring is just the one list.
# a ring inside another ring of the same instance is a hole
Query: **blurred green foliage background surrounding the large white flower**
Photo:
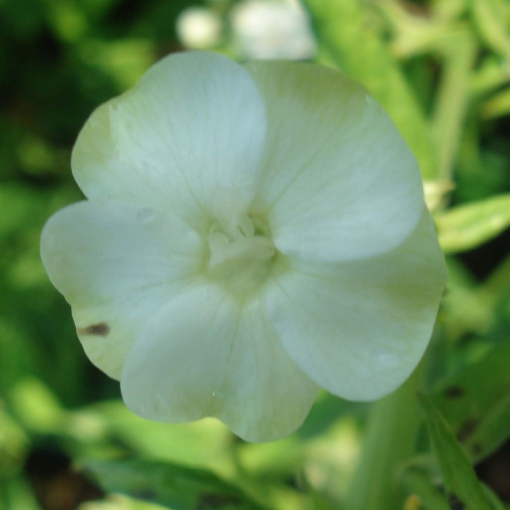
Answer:
[[[323, 394], [271, 444], [132, 415], [39, 259], [45, 220], [82, 197], [88, 115], [187, 48], [362, 83], [416, 154], [447, 253], [419, 376], [376, 404]], [[510, 2], [0, 0], [0, 104], [0, 508], [510, 507]]]

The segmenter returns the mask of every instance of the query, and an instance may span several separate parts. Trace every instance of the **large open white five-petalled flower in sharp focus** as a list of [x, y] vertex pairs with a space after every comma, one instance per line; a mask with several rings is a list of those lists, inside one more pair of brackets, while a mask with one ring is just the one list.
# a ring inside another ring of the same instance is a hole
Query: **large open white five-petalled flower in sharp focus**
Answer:
[[273, 440], [319, 387], [375, 399], [421, 358], [446, 271], [420, 174], [337, 71], [172, 55], [71, 163], [88, 200], [48, 221], [42, 260], [140, 416]]

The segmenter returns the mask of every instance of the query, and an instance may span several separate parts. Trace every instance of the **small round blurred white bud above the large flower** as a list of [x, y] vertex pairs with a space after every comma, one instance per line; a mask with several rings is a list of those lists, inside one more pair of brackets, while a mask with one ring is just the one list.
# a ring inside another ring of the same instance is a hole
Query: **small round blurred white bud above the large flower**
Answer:
[[205, 7], [188, 7], [177, 17], [177, 37], [184, 46], [205, 49], [221, 39], [221, 19]]

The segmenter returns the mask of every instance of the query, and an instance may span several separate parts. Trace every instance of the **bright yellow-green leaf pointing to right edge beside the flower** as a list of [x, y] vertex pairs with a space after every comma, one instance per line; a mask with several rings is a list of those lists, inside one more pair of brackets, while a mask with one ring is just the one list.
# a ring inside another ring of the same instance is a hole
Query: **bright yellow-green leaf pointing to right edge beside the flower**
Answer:
[[510, 225], [510, 193], [455, 207], [435, 219], [444, 251], [475, 248]]

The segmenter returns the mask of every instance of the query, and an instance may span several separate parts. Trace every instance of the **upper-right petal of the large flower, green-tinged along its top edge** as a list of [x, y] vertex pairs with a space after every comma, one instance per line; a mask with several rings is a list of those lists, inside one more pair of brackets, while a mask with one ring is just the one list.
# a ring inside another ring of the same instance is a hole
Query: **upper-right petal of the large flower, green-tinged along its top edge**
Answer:
[[255, 209], [285, 254], [335, 262], [400, 244], [423, 210], [417, 162], [393, 122], [333, 69], [255, 62], [268, 112]]

